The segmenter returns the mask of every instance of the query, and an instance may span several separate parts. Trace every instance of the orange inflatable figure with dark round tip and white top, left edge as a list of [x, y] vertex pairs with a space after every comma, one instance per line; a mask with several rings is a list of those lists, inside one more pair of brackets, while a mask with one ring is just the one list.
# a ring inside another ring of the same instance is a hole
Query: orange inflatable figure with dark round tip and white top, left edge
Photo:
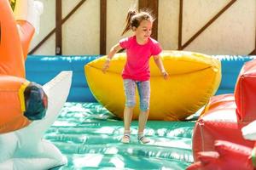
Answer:
[[[26, 55], [35, 31], [32, 24], [38, 22], [33, 19], [38, 18], [35, 4], [39, 3], [17, 0], [15, 21], [9, 1], [0, 1], [0, 133], [42, 119], [47, 109], [47, 95], [42, 87], [25, 77]], [[32, 14], [34, 17], [29, 17]]]

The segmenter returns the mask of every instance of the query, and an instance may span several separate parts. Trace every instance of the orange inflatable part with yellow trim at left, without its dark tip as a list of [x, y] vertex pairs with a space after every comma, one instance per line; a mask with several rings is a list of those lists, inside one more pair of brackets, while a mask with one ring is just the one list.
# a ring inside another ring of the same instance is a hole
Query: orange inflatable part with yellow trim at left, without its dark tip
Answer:
[[34, 28], [27, 21], [15, 21], [9, 0], [0, 1], [0, 133], [26, 127], [25, 60]]

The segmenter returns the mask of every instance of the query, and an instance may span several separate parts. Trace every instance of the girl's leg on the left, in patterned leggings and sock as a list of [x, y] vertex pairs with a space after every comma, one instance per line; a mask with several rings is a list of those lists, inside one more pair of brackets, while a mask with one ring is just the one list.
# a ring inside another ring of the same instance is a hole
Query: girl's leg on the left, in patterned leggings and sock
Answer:
[[123, 143], [130, 142], [130, 126], [132, 120], [132, 111], [133, 107], [135, 106], [135, 90], [136, 90], [136, 83], [130, 79], [124, 80], [124, 88], [125, 88], [125, 111], [124, 111], [124, 126], [125, 132], [124, 137], [122, 139]]

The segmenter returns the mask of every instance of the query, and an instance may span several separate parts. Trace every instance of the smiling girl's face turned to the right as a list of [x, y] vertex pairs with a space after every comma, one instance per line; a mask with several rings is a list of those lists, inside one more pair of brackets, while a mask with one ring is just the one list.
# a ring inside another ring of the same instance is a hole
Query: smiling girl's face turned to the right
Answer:
[[142, 20], [140, 26], [134, 29], [135, 36], [139, 42], [148, 42], [148, 37], [152, 33], [152, 24], [149, 20]]

